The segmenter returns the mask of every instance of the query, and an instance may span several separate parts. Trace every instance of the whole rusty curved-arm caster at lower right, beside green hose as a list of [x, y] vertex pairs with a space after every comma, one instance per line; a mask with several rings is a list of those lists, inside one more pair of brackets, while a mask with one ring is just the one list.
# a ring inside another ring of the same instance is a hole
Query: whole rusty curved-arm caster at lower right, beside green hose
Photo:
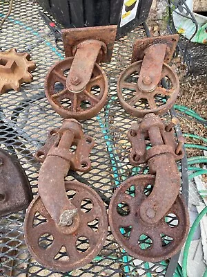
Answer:
[[[148, 163], [150, 175], [130, 177], [117, 188], [110, 201], [109, 222], [119, 244], [140, 260], [157, 262], [172, 257], [188, 234], [188, 211], [179, 195], [181, 182], [175, 162], [184, 156], [184, 138], [179, 143], [174, 139], [173, 125], [177, 123], [177, 118], [172, 118], [164, 125], [159, 116], [146, 114], [128, 132], [130, 163]], [[148, 150], [146, 141], [150, 142]], [[169, 223], [172, 217], [175, 226]]]

